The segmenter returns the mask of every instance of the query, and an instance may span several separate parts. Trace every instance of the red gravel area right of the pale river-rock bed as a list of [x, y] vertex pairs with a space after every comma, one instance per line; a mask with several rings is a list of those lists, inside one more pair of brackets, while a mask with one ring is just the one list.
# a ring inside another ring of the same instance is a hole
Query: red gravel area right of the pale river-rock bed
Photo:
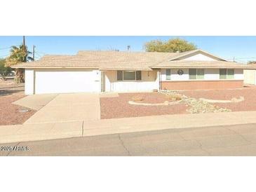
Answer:
[[186, 90], [180, 93], [194, 98], [211, 100], [231, 100], [233, 97], [244, 97], [243, 102], [237, 103], [213, 103], [219, 107], [231, 109], [231, 111], [256, 111], [256, 86], [251, 85], [236, 90]]

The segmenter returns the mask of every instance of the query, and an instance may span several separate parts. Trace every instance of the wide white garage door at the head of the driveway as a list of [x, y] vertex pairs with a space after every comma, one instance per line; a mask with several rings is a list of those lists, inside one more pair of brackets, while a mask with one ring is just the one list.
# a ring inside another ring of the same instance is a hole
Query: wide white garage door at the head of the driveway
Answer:
[[35, 93], [100, 92], [100, 71], [35, 71]]

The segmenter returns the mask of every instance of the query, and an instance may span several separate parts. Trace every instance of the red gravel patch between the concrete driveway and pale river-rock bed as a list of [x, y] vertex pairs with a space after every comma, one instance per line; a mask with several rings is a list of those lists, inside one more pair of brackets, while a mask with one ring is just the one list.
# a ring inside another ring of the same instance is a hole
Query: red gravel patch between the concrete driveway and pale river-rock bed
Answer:
[[185, 104], [169, 106], [140, 106], [128, 104], [134, 96], [144, 98], [143, 103], [163, 103], [168, 100], [159, 92], [119, 93], [119, 97], [100, 98], [101, 118], [126, 118], [136, 116], [157, 116], [166, 114], [186, 114]]

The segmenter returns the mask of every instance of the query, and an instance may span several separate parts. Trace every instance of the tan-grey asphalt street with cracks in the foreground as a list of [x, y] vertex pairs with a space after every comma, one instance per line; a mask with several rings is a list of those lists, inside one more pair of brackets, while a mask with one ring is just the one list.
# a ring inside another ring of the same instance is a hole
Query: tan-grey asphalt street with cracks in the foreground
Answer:
[[256, 124], [0, 144], [0, 156], [255, 156]]

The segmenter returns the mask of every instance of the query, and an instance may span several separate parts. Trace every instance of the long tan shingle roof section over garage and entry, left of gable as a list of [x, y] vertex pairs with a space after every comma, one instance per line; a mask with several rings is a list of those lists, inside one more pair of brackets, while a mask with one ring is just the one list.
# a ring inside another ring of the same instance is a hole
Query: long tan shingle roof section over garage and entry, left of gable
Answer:
[[25, 62], [13, 68], [83, 67], [107, 69], [150, 69], [179, 53], [149, 53], [121, 51], [79, 51], [77, 55], [46, 55], [36, 62]]

